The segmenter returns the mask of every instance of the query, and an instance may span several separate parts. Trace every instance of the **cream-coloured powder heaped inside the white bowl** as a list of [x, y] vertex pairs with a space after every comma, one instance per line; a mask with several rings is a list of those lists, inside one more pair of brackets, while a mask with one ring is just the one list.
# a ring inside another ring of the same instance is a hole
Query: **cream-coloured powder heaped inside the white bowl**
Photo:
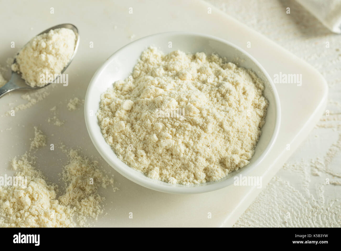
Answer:
[[119, 159], [152, 179], [216, 181], [249, 163], [268, 101], [264, 83], [215, 54], [145, 50], [97, 112]]

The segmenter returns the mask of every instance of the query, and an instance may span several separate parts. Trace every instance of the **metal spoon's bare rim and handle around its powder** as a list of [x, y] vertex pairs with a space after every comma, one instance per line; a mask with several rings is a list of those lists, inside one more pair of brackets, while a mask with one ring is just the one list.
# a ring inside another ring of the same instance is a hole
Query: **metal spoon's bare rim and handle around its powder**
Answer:
[[[78, 49], [78, 44], [79, 44], [79, 33], [78, 33], [78, 29], [76, 26], [72, 25], [72, 24], [60, 24], [60, 25], [56, 25], [56, 26], [53, 26], [51, 28], [48, 28], [47, 30], [44, 30], [42, 33], [39, 33], [37, 36], [41, 35], [41, 34], [44, 34], [44, 33], [47, 33], [49, 32], [50, 30], [54, 30], [54, 29], [58, 29], [58, 28], [68, 28], [68, 29], [71, 29], [73, 30], [73, 32], [75, 32], [76, 34], [76, 46], [75, 46], [75, 50], [71, 56], [71, 59], [69, 61], [69, 63], [64, 67], [64, 69], [61, 71], [61, 73], [63, 73], [66, 68], [68, 68], [68, 66], [70, 65], [73, 57], [76, 55], [76, 52], [77, 52], [77, 49]], [[26, 45], [26, 44], [25, 44]], [[13, 63], [16, 62], [16, 59], [14, 59]], [[61, 74], [60, 73], [60, 74]], [[58, 76], [57, 76], [58, 78]], [[57, 79], [56, 78], [56, 79]], [[55, 80], [56, 80], [55, 79]], [[12, 75], [11, 75], [11, 79], [10, 81], [8, 81], [4, 86], [2, 86], [0, 88], [0, 98], [8, 93], [8, 92], [11, 92], [12, 90], [18, 90], [18, 89], [21, 89], [21, 90], [24, 90], [24, 89], [32, 89], [32, 90], [36, 90], [36, 89], [40, 89], [40, 88], [43, 88], [45, 86], [48, 86], [49, 84], [51, 83], [47, 83], [46, 85], [44, 86], [41, 86], [41, 87], [32, 87], [30, 85], [28, 85], [24, 79], [21, 78], [21, 74], [17, 73], [17, 72], [14, 72], [12, 71]]]

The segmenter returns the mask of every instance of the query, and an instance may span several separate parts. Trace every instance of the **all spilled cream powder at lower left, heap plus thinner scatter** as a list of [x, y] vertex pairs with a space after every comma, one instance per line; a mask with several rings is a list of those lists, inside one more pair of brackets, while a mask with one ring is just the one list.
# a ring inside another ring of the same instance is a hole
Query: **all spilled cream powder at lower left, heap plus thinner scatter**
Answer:
[[[38, 128], [32, 142], [36, 140], [39, 143], [34, 146], [44, 145]], [[113, 186], [114, 180], [100, 170], [97, 161], [75, 150], [63, 151], [68, 163], [62, 167], [65, 187], [60, 196], [58, 185], [48, 182], [35, 168], [35, 157], [30, 152], [12, 160], [15, 176], [25, 177], [27, 185], [0, 186], [0, 227], [89, 226], [88, 219], [96, 220], [103, 213], [104, 197], [98, 190]]]

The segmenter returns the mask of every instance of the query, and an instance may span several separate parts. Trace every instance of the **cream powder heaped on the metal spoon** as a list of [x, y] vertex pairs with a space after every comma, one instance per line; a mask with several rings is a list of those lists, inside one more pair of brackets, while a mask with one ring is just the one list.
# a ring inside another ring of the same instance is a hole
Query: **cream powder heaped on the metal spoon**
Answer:
[[45, 86], [50, 79], [49, 74], [59, 75], [70, 62], [75, 43], [76, 34], [73, 30], [66, 28], [50, 30], [28, 42], [16, 56], [16, 63], [12, 64], [11, 68], [21, 73], [21, 77], [30, 86]]

